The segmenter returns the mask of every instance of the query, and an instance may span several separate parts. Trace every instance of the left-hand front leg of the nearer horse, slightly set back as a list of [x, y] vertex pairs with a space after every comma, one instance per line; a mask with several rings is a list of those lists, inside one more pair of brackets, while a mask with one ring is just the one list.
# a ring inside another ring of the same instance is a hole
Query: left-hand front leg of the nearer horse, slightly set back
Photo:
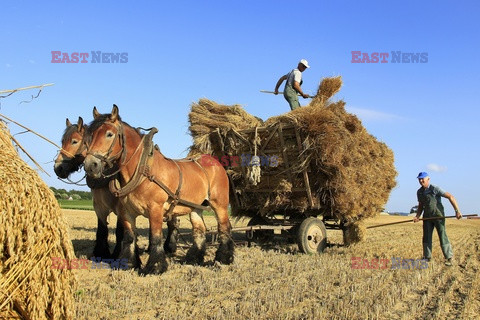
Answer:
[[138, 269], [140, 267], [140, 254], [137, 247], [137, 235], [135, 233], [135, 217], [122, 215], [123, 224], [122, 249], [119, 259], [128, 268]]

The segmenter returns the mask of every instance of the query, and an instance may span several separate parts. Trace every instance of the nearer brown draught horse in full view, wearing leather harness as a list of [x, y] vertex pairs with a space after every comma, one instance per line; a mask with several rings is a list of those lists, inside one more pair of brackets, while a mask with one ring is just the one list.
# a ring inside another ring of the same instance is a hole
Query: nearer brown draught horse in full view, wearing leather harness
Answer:
[[138, 215], [149, 219], [150, 255], [143, 273], [162, 273], [167, 261], [162, 247], [162, 224], [178, 215], [190, 215], [194, 243], [187, 252], [189, 263], [202, 264], [206, 251], [205, 231], [201, 213], [208, 204], [217, 218], [219, 247], [215, 260], [233, 262], [233, 241], [228, 218], [229, 182], [221, 165], [202, 167], [193, 160], [171, 160], [153, 147], [156, 132], [141, 135], [120, 119], [113, 105], [111, 114], [99, 114], [94, 108], [94, 120], [87, 130], [89, 139], [85, 171], [98, 179], [107, 170], [116, 169], [118, 178], [110, 183], [125, 210], [121, 212], [125, 234], [121, 258], [130, 267], [139, 267], [134, 254], [135, 221]]

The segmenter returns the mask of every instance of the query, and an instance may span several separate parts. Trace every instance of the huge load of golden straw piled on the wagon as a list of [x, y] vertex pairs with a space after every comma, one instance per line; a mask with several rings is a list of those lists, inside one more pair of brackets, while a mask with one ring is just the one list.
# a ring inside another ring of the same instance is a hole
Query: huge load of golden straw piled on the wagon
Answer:
[[[330, 100], [341, 85], [341, 77], [324, 78], [308, 106], [271, 117], [265, 122], [249, 115], [238, 105], [228, 107], [206, 99], [192, 105], [189, 114], [194, 140], [191, 155], [212, 154], [219, 158], [240, 155], [249, 150], [238, 140], [245, 140], [248, 134], [243, 134], [244, 138], [236, 137], [247, 131], [254, 132], [252, 128], [256, 127], [267, 128], [268, 135], [269, 128], [279, 123], [294, 126], [302, 136], [302, 152], [297, 149], [299, 139], [295, 139], [294, 134], [291, 138], [281, 137], [281, 148], [277, 150], [282, 150], [283, 156], [279, 158], [279, 166], [261, 168], [256, 188], [273, 192], [243, 192], [242, 195], [239, 186], [252, 187], [249, 182], [251, 170], [227, 168], [237, 187], [237, 203], [231, 200], [233, 215], [268, 215], [285, 210], [308, 215], [311, 214], [309, 209], [315, 207], [320, 208], [324, 216], [345, 224], [345, 230], [349, 230], [345, 232], [346, 243], [364, 238], [365, 232], [358, 222], [382, 211], [396, 185], [397, 172], [392, 150], [370, 135], [355, 115], [345, 111], [344, 101]], [[266, 140], [275, 143], [276, 136], [266, 139], [266, 135], [251, 134], [250, 145]], [[284, 166], [286, 158], [294, 162], [290, 167]], [[285, 173], [287, 171], [290, 176]], [[303, 171], [308, 171], [313, 206], [305, 193], [292, 192], [294, 188], [298, 189], [299, 181], [303, 181]]]

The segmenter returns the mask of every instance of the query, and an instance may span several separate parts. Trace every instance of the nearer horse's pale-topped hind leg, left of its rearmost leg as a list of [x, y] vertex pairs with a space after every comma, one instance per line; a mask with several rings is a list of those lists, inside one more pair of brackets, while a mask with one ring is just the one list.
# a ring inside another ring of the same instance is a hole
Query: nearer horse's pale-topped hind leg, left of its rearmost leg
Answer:
[[206, 227], [202, 219], [202, 210], [195, 209], [190, 213], [192, 223], [193, 245], [188, 249], [185, 262], [188, 264], [203, 264], [205, 251], [207, 250], [205, 232]]

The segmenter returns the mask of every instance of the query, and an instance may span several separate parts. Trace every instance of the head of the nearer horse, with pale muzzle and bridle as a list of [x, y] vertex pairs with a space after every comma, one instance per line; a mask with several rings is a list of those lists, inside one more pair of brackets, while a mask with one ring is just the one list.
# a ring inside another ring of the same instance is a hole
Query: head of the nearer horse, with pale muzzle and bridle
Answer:
[[124, 123], [116, 105], [110, 114], [100, 114], [94, 107], [93, 118], [86, 134], [88, 148], [84, 164], [87, 175], [98, 179], [125, 160]]

